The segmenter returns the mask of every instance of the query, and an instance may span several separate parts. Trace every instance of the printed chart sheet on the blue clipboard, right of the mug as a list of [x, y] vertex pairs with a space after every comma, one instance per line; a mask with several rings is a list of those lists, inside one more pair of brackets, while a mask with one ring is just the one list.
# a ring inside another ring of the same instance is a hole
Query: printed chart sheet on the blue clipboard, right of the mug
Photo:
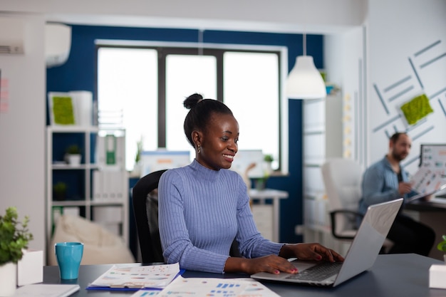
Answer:
[[180, 273], [179, 264], [113, 265], [88, 288], [165, 288]]

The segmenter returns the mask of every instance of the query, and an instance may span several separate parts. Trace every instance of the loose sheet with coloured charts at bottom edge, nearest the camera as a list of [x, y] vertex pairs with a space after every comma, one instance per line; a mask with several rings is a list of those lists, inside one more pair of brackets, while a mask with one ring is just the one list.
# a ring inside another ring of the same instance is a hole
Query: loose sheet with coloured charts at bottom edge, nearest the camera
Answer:
[[250, 278], [183, 278], [182, 276], [178, 276], [157, 296], [279, 297], [259, 281]]

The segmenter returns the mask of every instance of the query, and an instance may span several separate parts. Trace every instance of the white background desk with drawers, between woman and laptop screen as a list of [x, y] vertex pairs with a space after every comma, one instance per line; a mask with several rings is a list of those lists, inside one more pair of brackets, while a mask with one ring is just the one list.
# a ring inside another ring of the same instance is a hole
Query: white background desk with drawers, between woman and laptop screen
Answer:
[[[288, 198], [288, 192], [281, 191], [279, 189], [249, 189], [249, 197], [251, 200], [259, 200], [260, 205], [268, 205], [266, 201], [272, 200], [272, 234], [268, 236], [268, 234], [262, 233], [261, 224], [268, 224], [266, 220], [269, 218], [256, 218], [255, 207], [256, 204], [253, 204], [253, 214], [254, 220], [256, 220], [257, 227], [262, 235], [265, 236], [266, 239], [271, 239], [272, 241], [279, 242], [279, 216], [280, 216], [280, 199]], [[260, 222], [262, 221], [262, 222]]]

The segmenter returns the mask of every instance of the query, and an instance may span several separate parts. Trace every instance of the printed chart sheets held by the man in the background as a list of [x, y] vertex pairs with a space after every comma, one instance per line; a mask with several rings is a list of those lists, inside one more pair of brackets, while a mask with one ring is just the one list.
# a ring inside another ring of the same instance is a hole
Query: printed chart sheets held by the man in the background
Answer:
[[426, 197], [435, 194], [442, 189], [446, 189], [446, 175], [445, 170], [432, 170], [428, 167], [420, 167], [412, 179], [410, 180], [412, 188], [416, 194], [410, 197], [407, 202], [412, 202], [415, 199]]

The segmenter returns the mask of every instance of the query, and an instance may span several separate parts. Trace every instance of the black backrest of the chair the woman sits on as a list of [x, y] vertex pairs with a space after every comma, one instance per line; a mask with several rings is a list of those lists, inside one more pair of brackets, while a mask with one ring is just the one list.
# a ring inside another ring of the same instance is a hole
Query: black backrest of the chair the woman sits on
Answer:
[[136, 229], [140, 242], [142, 263], [164, 262], [158, 229], [158, 197], [157, 189], [161, 174], [166, 170], [151, 172], [133, 187], [132, 201], [135, 214]]

